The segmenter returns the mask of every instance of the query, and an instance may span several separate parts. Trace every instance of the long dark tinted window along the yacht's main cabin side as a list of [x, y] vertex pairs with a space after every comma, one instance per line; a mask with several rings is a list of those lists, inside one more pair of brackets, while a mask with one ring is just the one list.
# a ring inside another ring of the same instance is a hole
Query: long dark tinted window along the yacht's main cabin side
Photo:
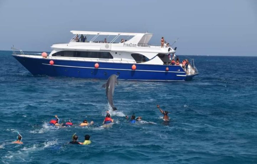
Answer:
[[90, 52], [90, 51], [59, 51], [59, 52], [53, 53], [52, 56], [113, 59], [113, 56], [109, 52]]

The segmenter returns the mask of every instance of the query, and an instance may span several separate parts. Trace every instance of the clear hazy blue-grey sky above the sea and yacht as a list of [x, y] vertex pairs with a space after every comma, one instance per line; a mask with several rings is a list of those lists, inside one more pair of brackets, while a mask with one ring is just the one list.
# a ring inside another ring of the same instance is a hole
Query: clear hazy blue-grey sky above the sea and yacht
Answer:
[[257, 0], [0, 0], [0, 50], [51, 51], [71, 30], [179, 38], [181, 55], [257, 56]]

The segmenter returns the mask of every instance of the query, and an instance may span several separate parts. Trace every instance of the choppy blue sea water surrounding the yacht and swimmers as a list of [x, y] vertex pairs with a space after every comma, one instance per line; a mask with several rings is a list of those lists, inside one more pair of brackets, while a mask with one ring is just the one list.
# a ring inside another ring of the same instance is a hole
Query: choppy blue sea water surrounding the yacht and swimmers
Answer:
[[[119, 81], [115, 123], [103, 128], [106, 80], [32, 76], [0, 51], [0, 163], [257, 163], [257, 57], [190, 57], [192, 81]], [[129, 124], [133, 113], [143, 121]], [[54, 115], [75, 126], [47, 126]], [[17, 131], [22, 145], [11, 144]], [[75, 132], [92, 144], [68, 144]]]

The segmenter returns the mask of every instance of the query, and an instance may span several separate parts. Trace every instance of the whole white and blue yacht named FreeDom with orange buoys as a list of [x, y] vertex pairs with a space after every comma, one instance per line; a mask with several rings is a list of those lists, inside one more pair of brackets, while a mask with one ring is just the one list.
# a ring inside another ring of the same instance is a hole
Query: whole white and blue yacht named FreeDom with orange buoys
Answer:
[[53, 44], [50, 54], [24, 53], [12, 47], [13, 56], [33, 75], [108, 79], [116, 74], [120, 80], [175, 81], [191, 80], [198, 74], [193, 61], [187, 70], [182, 63], [171, 65], [168, 55], [176, 51], [166, 44], [149, 45], [152, 33], [71, 33], [75, 36], [69, 43]]

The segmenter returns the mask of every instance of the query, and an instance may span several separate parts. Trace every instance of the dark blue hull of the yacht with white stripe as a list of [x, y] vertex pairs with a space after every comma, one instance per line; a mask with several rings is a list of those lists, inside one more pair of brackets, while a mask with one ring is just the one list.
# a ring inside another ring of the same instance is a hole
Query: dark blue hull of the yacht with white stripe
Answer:
[[[96, 69], [96, 62], [90, 61], [54, 60], [54, 65], [50, 65], [50, 59], [14, 57], [33, 75], [108, 79], [110, 75], [116, 74], [121, 80], [149, 81], [180, 81], [193, 78], [186, 76], [181, 66], [136, 64], [136, 70], [131, 70], [132, 64], [98, 62], [99, 68]], [[166, 67], [169, 71], [165, 71]]]

